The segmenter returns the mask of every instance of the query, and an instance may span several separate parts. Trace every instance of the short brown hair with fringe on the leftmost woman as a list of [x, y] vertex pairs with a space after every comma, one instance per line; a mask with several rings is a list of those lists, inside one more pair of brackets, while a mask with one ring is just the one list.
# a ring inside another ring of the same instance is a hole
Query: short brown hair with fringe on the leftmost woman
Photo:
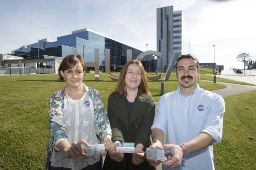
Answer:
[[86, 63], [85, 60], [80, 56], [79, 54], [77, 55], [68, 55], [66, 56], [62, 62], [59, 65], [59, 79], [61, 81], [64, 81], [64, 77], [60, 74], [60, 71], [65, 71], [71, 68], [74, 68], [78, 63], [81, 63], [83, 70], [86, 72]]

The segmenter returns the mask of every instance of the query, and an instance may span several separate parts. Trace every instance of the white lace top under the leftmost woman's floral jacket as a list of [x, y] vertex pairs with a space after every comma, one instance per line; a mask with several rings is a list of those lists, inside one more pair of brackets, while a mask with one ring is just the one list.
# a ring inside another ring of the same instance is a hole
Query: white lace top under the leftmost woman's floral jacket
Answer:
[[[80, 100], [73, 100], [68, 94], [64, 97], [63, 118], [66, 125], [68, 141], [70, 144], [85, 139], [90, 145], [98, 144], [94, 123], [94, 106], [91, 98], [85, 93]], [[64, 138], [56, 141], [57, 145]], [[85, 147], [85, 146], [84, 146]], [[71, 168], [79, 170], [100, 161], [100, 156], [90, 156], [85, 159], [78, 156], [76, 159], [65, 159], [62, 152], [53, 152], [50, 161], [54, 167]]]

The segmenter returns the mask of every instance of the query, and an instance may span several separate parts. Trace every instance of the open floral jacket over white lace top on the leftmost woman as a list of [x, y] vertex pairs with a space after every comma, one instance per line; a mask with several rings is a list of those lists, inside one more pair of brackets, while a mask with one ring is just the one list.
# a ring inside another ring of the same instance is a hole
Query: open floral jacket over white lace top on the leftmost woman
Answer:
[[[85, 84], [83, 84], [85, 86]], [[85, 86], [86, 93], [79, 100], [66, 94], [66, 88], [50, 97], [51, 138], [46, 155], [46, 169], [51, 161], [54, 167], [79, 170], [100, 161], [100, 156], [85, 159], [65, 159], [57, 144], [66, 139], [70, 144], [85, 139], [90, 145], [102, 142], [103, 136], [110, 134], [110, 122], [98, 91]], [[85, 147], [85, 146], [84, 146]]]

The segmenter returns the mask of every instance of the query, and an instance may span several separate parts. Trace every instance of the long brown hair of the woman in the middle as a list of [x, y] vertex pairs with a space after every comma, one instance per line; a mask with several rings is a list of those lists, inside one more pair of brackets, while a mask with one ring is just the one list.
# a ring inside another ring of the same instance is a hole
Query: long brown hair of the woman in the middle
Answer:
[[132, 60], [128, 61], [123, 66], [123, 68], [121, 69], [117, 86], [116, 86], [116, 88], [114, 89], [114, 91], [110, 95], [119, 95], [119, 96], [121, 96], [123, 94], [127, 95], [126, 88], [125, 88], [125, 76], [126, 76], [126, 73], [127, 73], [127, 70], [128, 70], [128, 66], [130, 64], [137, 64], [139, 66], [139, 68], [140, 68], [140, 71], [141, 71], [142, 80], [141, 80], [141, 83], [139, 84], [139, 87], [138, 87], [139, 88], [139, 92], [142, 95], [149, 94], [148, 80], [147, 80], [147, 77], [146, 77], [146, 74], [145, 74], [144, 67], [143, 67], [142, 63], [139, 60], [132, 59]]

